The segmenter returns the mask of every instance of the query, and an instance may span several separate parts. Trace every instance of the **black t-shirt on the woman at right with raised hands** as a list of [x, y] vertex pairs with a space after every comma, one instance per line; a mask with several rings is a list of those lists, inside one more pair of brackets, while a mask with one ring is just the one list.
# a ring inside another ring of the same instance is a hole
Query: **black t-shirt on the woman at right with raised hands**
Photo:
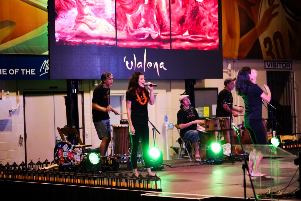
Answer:
[[249, 91], [242, 95], [246, 106], [244, 119], [261, 119], [262, 118], [262, 99], [263, 90], [253, 84], [249, 87]]

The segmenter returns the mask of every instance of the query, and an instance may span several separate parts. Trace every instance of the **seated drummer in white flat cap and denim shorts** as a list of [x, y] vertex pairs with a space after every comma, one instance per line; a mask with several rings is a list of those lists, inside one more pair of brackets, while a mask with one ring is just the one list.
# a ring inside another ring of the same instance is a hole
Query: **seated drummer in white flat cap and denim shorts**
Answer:
[[190, 140], [194, 143], [194, 159], [196, 162], [200, 162], [201, 156], [199, 152], [200, 132], [197, 131], [197, 127], [201, 127], [205, 122], [200, 120], [200, 117], [195, 108], [191, 107], [191, 103], [188, 95], [182, 95], [179, 97], [180, 110], [178, 111], [178, 125], [180, 127], [180, 135], [184, 140]]

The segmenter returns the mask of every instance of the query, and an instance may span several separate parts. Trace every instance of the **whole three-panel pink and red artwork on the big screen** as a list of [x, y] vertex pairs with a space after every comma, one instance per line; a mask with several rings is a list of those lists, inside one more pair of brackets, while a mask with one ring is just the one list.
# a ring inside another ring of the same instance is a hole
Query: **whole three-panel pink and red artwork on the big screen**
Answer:
[[170, 3], [116, 0], [115, 15], [112, 0], [56, 0], [56, 44], [218, 50], [217, 0]]

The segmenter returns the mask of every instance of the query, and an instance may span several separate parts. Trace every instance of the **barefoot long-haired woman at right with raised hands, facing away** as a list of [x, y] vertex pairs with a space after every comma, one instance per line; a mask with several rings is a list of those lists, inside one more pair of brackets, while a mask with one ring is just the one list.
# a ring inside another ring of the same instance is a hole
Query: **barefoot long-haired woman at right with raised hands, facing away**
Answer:
[[[238, 71], [235, 89], [238, 96], [244, 99], [246, 111], [244, 115], [244, 125], [249, 131], [251, 140], [254, 144], [267, 143], [265, 127], [262, 124], [262, 99], [266, 102], [271, 101], [271, 91], [267, 85], [262, 89], [251, 80], [254, 80], [254, 72], [250, 67], [243, 67]], [[257, 72], [257, 71], [256, 71]], [[259, 165], [262, 155], [252, 151], [249, 160], [249, 172], [252, 177], [263, 177], [266, 174], [259, 172]]]

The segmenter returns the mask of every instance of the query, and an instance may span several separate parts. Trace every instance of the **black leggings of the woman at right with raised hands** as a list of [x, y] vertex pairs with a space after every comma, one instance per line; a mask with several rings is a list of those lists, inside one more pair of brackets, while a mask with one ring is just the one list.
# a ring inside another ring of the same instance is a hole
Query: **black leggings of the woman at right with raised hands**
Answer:
[[265, 126], [262, 119], [246, 119], [244, 121], [245, 128], [249, 131], [253, 144], [266, 144]]

